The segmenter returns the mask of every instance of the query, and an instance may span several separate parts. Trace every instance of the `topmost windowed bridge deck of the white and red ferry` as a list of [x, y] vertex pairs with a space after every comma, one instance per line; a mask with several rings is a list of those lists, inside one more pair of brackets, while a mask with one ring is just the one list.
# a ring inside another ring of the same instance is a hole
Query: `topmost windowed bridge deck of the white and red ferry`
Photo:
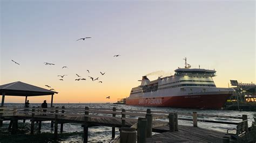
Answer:
[[178, 68], [175, 71], [174, 75], [190, 75], [190, 74], [203, 74], [207, 76], [215, 76], [216, 71], [215, 70], [209, 70], [209, 69], [198, 69], [198, 68]]

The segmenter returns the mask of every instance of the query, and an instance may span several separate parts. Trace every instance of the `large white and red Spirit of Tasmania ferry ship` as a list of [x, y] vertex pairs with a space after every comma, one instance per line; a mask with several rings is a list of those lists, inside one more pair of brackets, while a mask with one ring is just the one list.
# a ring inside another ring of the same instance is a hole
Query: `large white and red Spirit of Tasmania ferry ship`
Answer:
[[217, 88], [215, 70], [191, 68], [185, 58], [185, 68], [175, 74], [150, 81], [143, 76], [141, 84], [132, 88], [126, 105], [175, 108], [220, 109], [233, 94], [233, 88]]

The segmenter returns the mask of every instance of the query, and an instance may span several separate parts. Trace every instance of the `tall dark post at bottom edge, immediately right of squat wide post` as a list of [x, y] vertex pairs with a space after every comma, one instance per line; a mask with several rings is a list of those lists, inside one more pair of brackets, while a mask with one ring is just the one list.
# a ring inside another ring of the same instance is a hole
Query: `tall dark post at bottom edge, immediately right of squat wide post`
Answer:
[[146, 128], [147, 128], [147, 119], [139, 117], [138, 118], [138, 128], [137, 128], [137, 141], [138, 143], [146, 142]]

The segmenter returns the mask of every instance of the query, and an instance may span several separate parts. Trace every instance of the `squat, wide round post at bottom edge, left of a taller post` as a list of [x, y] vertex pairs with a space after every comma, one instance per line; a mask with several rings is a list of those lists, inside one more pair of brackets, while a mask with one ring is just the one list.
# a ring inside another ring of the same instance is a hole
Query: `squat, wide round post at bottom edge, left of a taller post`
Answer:
[[136, 129], [132, 127], [122, 127], [120, 130], [120, 142], [136, 143]]

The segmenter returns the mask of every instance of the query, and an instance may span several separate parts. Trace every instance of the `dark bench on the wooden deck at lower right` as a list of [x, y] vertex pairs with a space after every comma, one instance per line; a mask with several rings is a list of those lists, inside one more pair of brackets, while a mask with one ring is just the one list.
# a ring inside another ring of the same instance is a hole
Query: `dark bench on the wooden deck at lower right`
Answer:
[[243, 135], [245, 135], [246, 137], [246, 132], [248, 132], [248, 121], [243, 120], [238, 123], [236, 129], [228, 129], [226, 134], [231, 135], [231, 138], [239, 140], [239, 138], [242, 137]]

